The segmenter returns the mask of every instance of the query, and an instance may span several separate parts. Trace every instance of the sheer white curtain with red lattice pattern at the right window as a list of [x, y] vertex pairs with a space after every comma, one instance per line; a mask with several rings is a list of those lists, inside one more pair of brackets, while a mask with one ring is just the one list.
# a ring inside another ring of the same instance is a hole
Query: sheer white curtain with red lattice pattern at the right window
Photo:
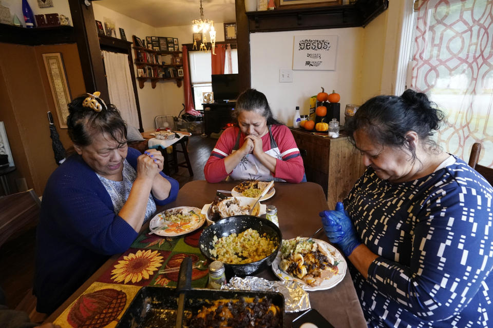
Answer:
[[425, 92], [447, 114], [438, 143], [493, 167], [493, 1], [424, 0], [414, 32], [412, 89]]

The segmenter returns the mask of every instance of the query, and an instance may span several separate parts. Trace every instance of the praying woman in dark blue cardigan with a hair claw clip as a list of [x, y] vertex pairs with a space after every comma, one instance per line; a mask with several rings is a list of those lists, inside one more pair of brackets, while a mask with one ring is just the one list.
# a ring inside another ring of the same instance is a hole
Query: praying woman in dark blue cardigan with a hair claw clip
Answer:
[[77, 154], [50, 176], [36, 236], [36, 310], [50, 314], [113, 254], [126, 251], [156, 204], [176, 199], [157, 150], [127, 147], [126, 125], [99, 92], [69, 104]]

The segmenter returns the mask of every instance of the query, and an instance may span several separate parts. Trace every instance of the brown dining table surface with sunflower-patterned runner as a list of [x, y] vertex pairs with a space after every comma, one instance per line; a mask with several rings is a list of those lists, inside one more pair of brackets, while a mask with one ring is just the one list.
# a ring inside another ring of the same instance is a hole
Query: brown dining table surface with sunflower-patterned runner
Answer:
[[[204, 204], [214, 201], [217, 190], [232, 190], [237, 184], [238, 181], [188, 182], [179, 190], [175, 201], [158, 207], [157, 211], [180, 206], [202, 209]], [[262, 200], [261, 203], [277, 208], [283, 239], [309, 237], [321, 228], [318, 213], [328, 210], [328, 205], [320, 185], [313, 182], [275, 182], [274, 190], [272, 197]], [[195, 262], [205, 259], [198, 248], [203, 227], [177, 237], [161, 237], [149, 233], [148, 225], [147, 222], [142, 227], [140, 235], [128, 251], [111, 256], [45, 322], [53, 322], [61, 327], [84, 324], [93, 327], [114, 327], [142, 286], [176, 286], [178, 272], [160, 275], [162, 269], [169, 271], [178, 268], [184, 256], [192, 257]], [[323, 230], [313, 238], [328, 241]], [[143, 265], [146, 265], [147, 270], [140, 273], [139, 268]], [[254, 275], [271, 281], [279, 280], [271, 267]], [[193, 288], [205, 288], [207, 270], [194, 269], [192, 279]], [[311, 308], [317, 310], [335, 328], [367, 326], [349, 270], [344, 278], [330, 289], [309, 291], [308, 294]], [[89, 310], [95, 313], [88, 314]], [[300, 314], [301, 312], [287, 312], [284, 327], [291, 327], [293, 319]]]

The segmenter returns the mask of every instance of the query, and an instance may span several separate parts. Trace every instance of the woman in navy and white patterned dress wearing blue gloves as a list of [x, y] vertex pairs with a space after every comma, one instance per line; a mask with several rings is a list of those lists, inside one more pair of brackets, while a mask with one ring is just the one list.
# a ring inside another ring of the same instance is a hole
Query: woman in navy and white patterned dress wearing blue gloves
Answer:
[[320, 216], [352, 263], [369, 327], [493, 325], [493, 188], [431, 139], [442, 120], [406, 90], [348, 122], [368, 168]]

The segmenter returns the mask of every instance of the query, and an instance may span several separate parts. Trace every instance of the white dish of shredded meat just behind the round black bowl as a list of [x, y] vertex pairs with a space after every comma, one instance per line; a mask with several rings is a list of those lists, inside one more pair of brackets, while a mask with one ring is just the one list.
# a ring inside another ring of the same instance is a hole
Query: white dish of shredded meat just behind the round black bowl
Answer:
[[[255, 198], [250, 197], [226, 197], [218, 198], [211, 204], [206, 204], [202, 209], [207, 224], [235, 215], [249, 215], [250, 209], [255, 203]], [[260, 216], [266, 213], [266, 206], [257, 202], [251, 215]]]

